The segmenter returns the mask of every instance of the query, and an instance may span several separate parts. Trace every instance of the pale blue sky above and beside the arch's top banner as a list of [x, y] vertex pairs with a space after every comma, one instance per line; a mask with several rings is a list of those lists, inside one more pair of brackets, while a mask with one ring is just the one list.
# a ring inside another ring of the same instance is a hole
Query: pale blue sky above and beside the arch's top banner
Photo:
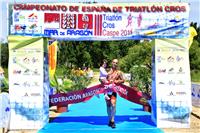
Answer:
[[[7, 29], [8, 29], [8, 21], [7, 21], [7, 3], [55, 3], [55, 2], [70, 2], [70, 3], [78, 3], [78, 2], [125, 2], [125, 0], [0, 0], [0, 41], [6, 41], [7, 38]], [[126, 2], [149, 2], [149, 0], [126, 0]], [[188, 2], [190, 5], [190, 22], [197, 22], [200, 25], [200, 0], [151, 0], [151, 2]]]

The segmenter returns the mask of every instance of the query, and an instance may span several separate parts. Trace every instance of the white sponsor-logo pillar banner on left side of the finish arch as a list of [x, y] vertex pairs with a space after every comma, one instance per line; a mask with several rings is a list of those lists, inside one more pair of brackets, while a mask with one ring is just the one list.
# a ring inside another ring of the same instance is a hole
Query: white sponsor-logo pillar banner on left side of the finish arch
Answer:
[[44, 124], [43, 39], [9, 36], [8, 41], [10, 129], [39, 129]]

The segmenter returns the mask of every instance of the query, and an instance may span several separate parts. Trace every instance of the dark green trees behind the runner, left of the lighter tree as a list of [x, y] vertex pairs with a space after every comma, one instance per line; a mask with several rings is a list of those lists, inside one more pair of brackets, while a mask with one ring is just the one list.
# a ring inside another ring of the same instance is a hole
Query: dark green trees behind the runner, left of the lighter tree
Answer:
[[124, 57], [135, 41], [60, 41], [58, 64], [70, 68], [100, 66], [103, 59], [108, 61]]

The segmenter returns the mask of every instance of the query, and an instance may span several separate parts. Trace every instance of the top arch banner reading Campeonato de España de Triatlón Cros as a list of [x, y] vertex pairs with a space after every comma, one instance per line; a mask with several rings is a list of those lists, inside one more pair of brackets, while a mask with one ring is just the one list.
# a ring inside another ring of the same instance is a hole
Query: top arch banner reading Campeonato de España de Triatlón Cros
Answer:
[[66, 40], [188, 37], [187, 3], [12, 5], [10, 33]]

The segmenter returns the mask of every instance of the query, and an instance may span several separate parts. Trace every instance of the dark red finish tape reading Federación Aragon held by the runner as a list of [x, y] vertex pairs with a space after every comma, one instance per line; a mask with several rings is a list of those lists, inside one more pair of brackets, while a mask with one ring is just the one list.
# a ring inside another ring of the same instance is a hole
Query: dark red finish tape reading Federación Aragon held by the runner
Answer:
[[142, 92], [135, 91], [133, 88], [128, 87], [126, 85], [115, 85], [115, 84], [108, 84], [108, 85], [96, 85], [90, 88], [85, 88], [79, 91], [73, 91], [69, 93], [60, 93], [50, 96], [50, 106], [55, 105], [68, 105], [74, 104], [79, 102], [84, 102], [92, 98], [97, 94], [106, 93], [109, 91], [114, 91], [119, 94], [119, 96], [127, 99], [131, 102], [135, 102], [138, 104], [142, 104], [140, 99], [142, 98]]

